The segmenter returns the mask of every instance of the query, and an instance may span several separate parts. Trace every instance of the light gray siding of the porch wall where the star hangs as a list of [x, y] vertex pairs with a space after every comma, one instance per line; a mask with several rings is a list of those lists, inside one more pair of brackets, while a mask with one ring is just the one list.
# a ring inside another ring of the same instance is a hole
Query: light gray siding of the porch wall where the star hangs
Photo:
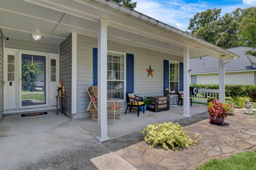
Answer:
[[[97, 39], [77, 35], [77, 113], [85, 113], [90, 98], [86, 89], [93, 84], [93, 48]], [[134, 54], [134, 92], [139, 96], [163, 95], [163, 61], [181, 62], [183, 58], [153, 50], [108, 41], [108, 50]], [[145, 69], [151, 65], [154, 78], [147, 77]], [[123, 103], [123, 108], [126, 103]]]

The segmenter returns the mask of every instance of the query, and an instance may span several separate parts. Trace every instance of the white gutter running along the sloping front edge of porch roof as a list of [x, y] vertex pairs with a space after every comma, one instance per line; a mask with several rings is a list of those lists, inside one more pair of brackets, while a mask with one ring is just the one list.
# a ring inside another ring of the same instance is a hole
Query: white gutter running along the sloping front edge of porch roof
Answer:
[[211, 43], [209, 43], [209, 42], [207, 42], [205, 40], [199, 39], [199, 38], [197, 38], [197, 37], [195, 37], [193, 35], [190, 35], [190, 34], [184, 32], [184, 31], [181, 31], [181, 30], [179, 30], [177, 28], [174, 28], [174, 27], [172, 27], [169, 24], [166, 24], [164, 22], [158, 21], [158, 20], [156, 20], [154, 18], [151, 18], [150, 16], [147, 16], [145, 14], [142, 14], [142, 13], [138, 12], [138, 11], [132, 10], [129, 7], [126, 7], [126, 6], [123, 6], [121, 4], [118, 4], [117, 2], [114, 2], [114, 1], [111, 1], [111, 0], [94, 0], [94, 1], [99, 2], [101, 4], [105, 4], [105, 5], [110, 6], [112, 8], [115, 8], [116, 10], [119, 10], [119, 11], [122, 11], [124, 13], [130, 14], [132, 16], [135, 16], [135, 17], [137, 17], [139, 19], [142, 19], [144, 21], [147, 21], [149, 23], [153, 23], [153, 24], [158, 25], [159, 27], [162, 27], [162, 28], [167, 29], [169, 31], [178, 33], [179, 35], [181, 35], [183, 37], [186, 37], [188, 39], [194, 40], [197, 43], [203, 44], [203, 45], [208, 46], [208, 47], [212, 47], [213, 49], [215, 49], [215, 50], [217, 50], [217, 51], [219, 51], [221, 53], [225, 53], [227, 55], [230, 55], [230, 56], [233, 56], [233, 57], [237, 57], [237, 58], [239, 57], [238, 55], [236, 55], [234, 53], [231, 53], [231, 52], [229, 52], [226, 49], [223, 49], [223, 48], [221, 48], [221, 47], [219, 47], [217, 45], [213, 45], [213, 44], [211, 44]]

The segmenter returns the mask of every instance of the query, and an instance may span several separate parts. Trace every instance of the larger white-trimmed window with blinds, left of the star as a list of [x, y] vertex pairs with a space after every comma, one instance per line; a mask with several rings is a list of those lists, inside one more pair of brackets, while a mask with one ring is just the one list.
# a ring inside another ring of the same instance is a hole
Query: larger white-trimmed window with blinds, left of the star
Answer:
[[107, 98], [124, 99], [124, 61], [123, 53], [108, 52]]

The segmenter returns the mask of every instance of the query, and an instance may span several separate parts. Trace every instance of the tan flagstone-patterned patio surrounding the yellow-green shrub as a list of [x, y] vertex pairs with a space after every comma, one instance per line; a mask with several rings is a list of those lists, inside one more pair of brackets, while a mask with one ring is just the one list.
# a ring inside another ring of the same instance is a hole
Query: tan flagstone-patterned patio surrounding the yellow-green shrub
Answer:
[[199, 133], [202, 140], [194, 148], [180, 151], [150, 149], [139, 133], [103, 143], [138, 169], [195, 169], [213, 158], [227, 158], [238, 152], [256, 150], [256, 116], [237, 111], [222, 125], [209, 123], [208, 114], [184, 118], [177, 123], [189, 135]]

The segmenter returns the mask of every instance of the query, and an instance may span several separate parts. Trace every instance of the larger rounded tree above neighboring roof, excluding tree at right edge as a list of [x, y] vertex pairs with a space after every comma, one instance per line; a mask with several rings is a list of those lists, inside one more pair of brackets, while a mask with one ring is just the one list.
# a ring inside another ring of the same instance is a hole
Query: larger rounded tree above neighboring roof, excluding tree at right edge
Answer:
[[214, 8], [194, 15], [188, 32], [223, 48], [237, 47], [238, 16], [241, 9], [220, 17], [221, 9]]

